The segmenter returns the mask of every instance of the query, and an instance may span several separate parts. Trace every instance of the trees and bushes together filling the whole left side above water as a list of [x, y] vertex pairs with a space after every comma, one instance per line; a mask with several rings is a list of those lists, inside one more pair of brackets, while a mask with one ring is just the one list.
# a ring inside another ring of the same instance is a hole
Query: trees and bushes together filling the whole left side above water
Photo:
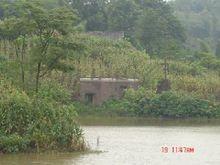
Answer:
[[46, 76], [78, 49], [70, 34], [75, 15], [36, 1], [1, 7], [0, 152], [85, 150], [71, 94]]

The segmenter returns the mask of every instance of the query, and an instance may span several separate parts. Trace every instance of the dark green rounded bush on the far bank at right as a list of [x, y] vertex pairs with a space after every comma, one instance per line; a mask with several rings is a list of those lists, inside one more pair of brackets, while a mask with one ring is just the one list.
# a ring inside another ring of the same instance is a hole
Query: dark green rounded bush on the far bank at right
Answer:
[[175, 92], [164, 92], [147, 102], [145, 107], [146, 114], [161, 117], [216, 117], [219, 114], [215, 104]]

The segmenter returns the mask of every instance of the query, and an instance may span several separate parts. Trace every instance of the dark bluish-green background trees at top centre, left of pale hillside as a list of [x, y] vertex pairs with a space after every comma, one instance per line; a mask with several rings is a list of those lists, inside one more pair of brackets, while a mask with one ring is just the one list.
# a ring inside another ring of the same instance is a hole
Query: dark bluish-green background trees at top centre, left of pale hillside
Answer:
[[86, 31], [123, 31], [134, 46], [162, 55], [167, 43], [182, 46], [184, 30], [162, 0], [70, 0]]

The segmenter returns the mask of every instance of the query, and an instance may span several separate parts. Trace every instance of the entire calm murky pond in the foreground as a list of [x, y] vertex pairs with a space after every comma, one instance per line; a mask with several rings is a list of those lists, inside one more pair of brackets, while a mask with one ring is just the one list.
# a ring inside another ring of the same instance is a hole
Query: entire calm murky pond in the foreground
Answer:
[[[91, 149], [99, 152], [0, 155], [0, 165], [220, 164], [220, 125], [216, 122], [106, 121], [84, 122], [85, 137]], [[162, 147], [168, 147], [168, 153]], [[189, 147], [194, 152], [173, 153], [172, 147]]]

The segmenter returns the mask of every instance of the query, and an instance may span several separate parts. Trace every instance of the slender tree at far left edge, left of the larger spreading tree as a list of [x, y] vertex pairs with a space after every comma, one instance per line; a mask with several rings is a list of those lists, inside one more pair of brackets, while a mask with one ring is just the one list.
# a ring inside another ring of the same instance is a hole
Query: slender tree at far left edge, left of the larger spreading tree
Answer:
[[[28, 49], [28, 39], [33, 33], [34, 24], [24, 11], [20, 2], [2, 2], [2, 8], [7, 11], [2, 19], [0, 38], [7, 40], [14, 48], [16, 60], [21, 69], [21, 83], [25, 89], [25, 56]], [[6, 54], [6, 53], [5, 53]]]

